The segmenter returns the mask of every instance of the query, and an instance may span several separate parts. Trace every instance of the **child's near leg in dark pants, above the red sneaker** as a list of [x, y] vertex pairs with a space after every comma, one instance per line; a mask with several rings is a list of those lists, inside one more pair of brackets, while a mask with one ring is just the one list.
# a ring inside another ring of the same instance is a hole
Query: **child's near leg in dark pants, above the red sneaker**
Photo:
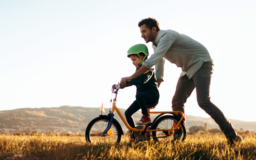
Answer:
[[148, 115], [148, 106], [147, 103], [154, 103], [159, 99], [158, 96], [154, 92], [138, 92], [136, 94], [136, 100], [140, 105], [141, 113], [144, 116]]

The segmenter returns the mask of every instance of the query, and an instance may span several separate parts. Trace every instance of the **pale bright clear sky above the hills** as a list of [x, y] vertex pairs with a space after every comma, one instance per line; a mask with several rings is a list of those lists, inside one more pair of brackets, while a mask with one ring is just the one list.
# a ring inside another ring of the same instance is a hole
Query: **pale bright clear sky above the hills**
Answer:
[[[256, 121], [255, 0], [0, 0], [0, 110], [103, 103], [108, 112], [111, 86], [135, 72], [126, 54], [146, 44], [138, 22], [148, 17], [203, 44], [215, 65], [211, 101], [229, 119]], [[164, 67], [154, 111], [172, 111], [181, 72]], [[135, 86], [119, 90], [117, 107], [128, 108], [135, 94]], [[195, 91], [185, 114], [210, 117]]]

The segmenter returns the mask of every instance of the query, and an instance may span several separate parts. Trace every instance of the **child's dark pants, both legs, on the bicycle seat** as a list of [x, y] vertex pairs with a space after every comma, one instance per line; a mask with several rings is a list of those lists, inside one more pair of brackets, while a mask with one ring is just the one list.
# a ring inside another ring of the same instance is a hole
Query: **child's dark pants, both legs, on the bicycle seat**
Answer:
[[137, 92], [136, 100], [131, 104], [131, 106], [124, 112], [128, 124], [135, 128], [135, 122], [132, 115], [141, 109], [143, 115], [148, 115], [147, 104], [158, 102], [159, 96], [154, 92]]

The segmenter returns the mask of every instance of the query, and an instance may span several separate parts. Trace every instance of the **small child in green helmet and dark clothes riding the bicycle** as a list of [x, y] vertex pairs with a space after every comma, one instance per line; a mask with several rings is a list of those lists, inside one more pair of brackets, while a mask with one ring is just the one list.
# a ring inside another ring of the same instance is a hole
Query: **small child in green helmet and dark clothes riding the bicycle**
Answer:
[[[132, 64], [138, 70], [144, 60], [148, 57], [148, 47], [144, 44], [136, 44], [132, 46], [127, 53], [127, 57], [132, 60]], [[131, 104], [131, 106], [125, 111], [125, 117], [128, 124], [135, 128], [135, 123], [132, 115], [141, 109], [142, 117], [136, 124], [144, 125], [151, 123], [150, 115], [148, 115], [147, 104], [152, 104], [159, 100], [159, 92], [157, 88], [156, 76], [153, 71], [148, 71], [147, 73], [127, 82], [128, 85], [121, 87], [128, 87], [135, 85], [137, 87], [136, 100]]]

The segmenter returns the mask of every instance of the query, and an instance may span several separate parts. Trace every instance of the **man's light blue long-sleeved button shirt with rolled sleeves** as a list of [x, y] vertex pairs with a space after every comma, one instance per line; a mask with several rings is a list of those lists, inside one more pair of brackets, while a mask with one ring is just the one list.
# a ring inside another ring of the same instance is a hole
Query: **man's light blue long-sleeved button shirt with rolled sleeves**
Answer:
[[159, 30], [156, 36], [156, 45], [157, 47], [152, 45], [154, 54], [142, 65], [149, 70], [156, 65], [156, 79], [160, 82], [164, 81], [164, 59], [180, 67], [182, 69], [181, 76], [187, 74], [189, 79], [195, 75], [204, 62], [212, 60], [202, 44], [174, 30]]

